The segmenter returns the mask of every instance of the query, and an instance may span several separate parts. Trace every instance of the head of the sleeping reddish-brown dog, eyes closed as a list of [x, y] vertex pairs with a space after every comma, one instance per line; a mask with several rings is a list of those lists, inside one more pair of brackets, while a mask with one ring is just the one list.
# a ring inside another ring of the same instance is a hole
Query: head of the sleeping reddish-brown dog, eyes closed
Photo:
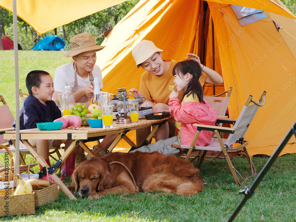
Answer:
[[99, 157], [83, 161], [72, 174], [72, 184], [81, 197], [110, 189], [112, 185], [110, 164], [106, 159]]

